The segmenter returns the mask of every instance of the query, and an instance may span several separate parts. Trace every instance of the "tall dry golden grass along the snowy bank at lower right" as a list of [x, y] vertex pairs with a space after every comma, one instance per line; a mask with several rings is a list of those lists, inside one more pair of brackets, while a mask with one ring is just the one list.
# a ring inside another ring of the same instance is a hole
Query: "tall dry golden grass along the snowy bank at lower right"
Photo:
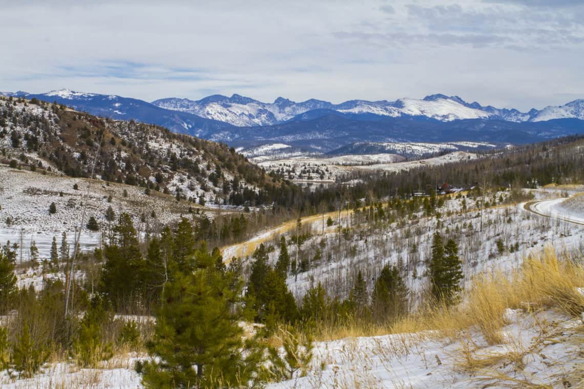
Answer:
[[[402, 334], [428, 331], [425, 336], [446, 337], [454, 341], [461, 332], [478, 328], [488, 344], [503, 341], [500, 328], [506, 323], [506, 309], [533, 312], [553, 309], [569, 316], [584, 311], [584, 265], [580, 258], [547, 247], [537, 256], [524, 260], [522, 267], [504, 273], [476, 276], [462, 294], [457, 306], [427, 305], [411, 316], [391, 324], [349, 321], [335, 326], [321, 326], [312, 333], [319, 341], [351, 337]], [[430, 332], [433, 331], [433, 332]]]

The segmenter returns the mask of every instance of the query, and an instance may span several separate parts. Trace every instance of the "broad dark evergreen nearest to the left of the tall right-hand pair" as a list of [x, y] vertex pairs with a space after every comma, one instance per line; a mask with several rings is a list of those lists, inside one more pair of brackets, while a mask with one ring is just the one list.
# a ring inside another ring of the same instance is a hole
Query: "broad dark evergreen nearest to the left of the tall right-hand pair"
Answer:
[[375, 283], [371, 307], [377, 320], [385, 321], [406, 313], [408, 288], [394, 265], [385, 265]]

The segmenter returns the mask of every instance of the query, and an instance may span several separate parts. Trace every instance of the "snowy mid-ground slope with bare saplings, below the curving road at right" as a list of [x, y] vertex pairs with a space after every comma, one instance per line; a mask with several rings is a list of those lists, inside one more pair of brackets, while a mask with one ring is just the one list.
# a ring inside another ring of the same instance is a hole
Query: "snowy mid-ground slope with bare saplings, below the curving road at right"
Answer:
[[[565, 191], [549, 189], [532, 192], [535, 199], [543, 200], [556, 198]], [[505, 200], [509, 195], [510, 192], [497, 192], [489, 195], [488, 201], [498, 204], [501, 198]], [[467, 212], [463, 212], [463, 199]], [[321, 282], [332, 296], [345, 298], [357, 271], [360, 270], [369, 280], [371, 291], [373, 280], [380, 274], [381, 268], [390, 264], [402, 268], [406, 285], [411, 290], [411, 300], [416, 302], [416, 296], [427, 287], [426, 266], [432, 255], [432, 234], [435, 231], [457, 241], [467, 282], [475, 274], [519, 267], [524, 257], [537, 253], [545, 244], [562, 250], [584, 249], [582, 225], [538, 216], [526, 211], [523, 204], [486, 208], [482, 218], [479, 208], [471, 197], [451, 198], [438, 210], [442, 215], [440, 220], [418, 213], [415, 218], [377, 227], [359, 222], [359, 218], [352, 216], [352, 211], [343, 211], [340, 225], [347, 227], [347, 232], [340, 234], [338, 213], [329, 213], [325, 218], [319, 215], [304, 218], [304, 231], [310, 231], [312, 236], [301, 245], [298, 258], [308, 259], [310, 269], [297, 276], [289, 274], [288, 287], [301, 299], [311, 286]], [[326, 226], [329, 216], [334, 223], [331, 227]], [[245, 243], [224, 248], [224, 258], [245, 258], [260, 243], [264, 243], [274, 246], [270, 260], [275, 263], [279, 255], [280, 236], [286, 236], [289, 240], [288, 253], [294, 258], [296, 244], [290, 241], [294, 233], [293, 223], [258, 233]], [[502, 252], [499, 251], [498, 241], [503, 244]], [[314, 260], [317, 252], [320, 258]]]

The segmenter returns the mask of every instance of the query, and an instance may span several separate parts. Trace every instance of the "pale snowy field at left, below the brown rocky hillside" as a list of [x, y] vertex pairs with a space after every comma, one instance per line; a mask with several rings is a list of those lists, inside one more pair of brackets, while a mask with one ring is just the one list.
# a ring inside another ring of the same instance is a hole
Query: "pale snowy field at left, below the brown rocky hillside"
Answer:
[[[53, 237], [60, 244], [62, 232], [67, 233], [69, 246], [74, 247], [75, 229], [81, 223], [82, 204], [89, 183], [90, 180], [84, 178], [43, 175], [0, 166], [0, 244], [4, 245], [8, 240], [11, 244], [18, 243], [17, 258], [20, 260], [22, 254], [23, 261], [30, 258], [32, 241], [39, 248], [40, 257], [48, 257]], [[74, 190], [74, 184], [78, 184], [78, 190]], [[123, 196], [124, 190], [128, 193], [127, 197]], [[107, 201], [110, 195], [112, 202]], [[48, 212], [51, 202], [57, 206], [55, 215]], [[155, 231], [161, 225], [178, 219], [189, 208], [189, 204], [179, 204], [170, 195], [155, 191], [146, 195], [144, 188], [93, 180], [87, 200], [85, 223], [79, 239], [82, 251], [98, 247], [102, 232], [113, 225], [105, 218], [109, 206], [116, 216], [121, 212], [133, 215], [134, 225], [142, 234]], [[155, 212], [154, 218], [152, 211]], [[141, 217], [142, 214], [144, 218]], [[100, 232], [89, 232], [86, 229], [85, 224], [90, 216], [98, 220]]]

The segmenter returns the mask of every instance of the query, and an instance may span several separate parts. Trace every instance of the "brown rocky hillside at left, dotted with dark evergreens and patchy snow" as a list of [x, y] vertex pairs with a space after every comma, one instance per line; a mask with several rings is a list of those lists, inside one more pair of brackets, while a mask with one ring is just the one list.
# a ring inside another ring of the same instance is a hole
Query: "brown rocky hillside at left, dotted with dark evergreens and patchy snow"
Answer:
[[36, 99], [0, 103], [1, 162], [12, 167], [90, 177], [96, 158], [99, 180], [200, 204], [269, 204], [288, 185], [220, 143]]

